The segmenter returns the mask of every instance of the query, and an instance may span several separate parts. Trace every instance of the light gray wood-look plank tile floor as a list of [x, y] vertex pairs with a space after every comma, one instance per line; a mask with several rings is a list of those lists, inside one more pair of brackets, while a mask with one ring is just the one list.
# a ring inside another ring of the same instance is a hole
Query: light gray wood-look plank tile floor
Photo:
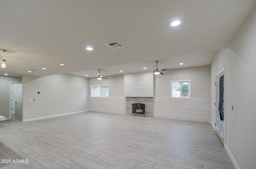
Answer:
[[234, 169], [209, 123], [95, 112], [0, 121], [0, 159], [0, 169]]

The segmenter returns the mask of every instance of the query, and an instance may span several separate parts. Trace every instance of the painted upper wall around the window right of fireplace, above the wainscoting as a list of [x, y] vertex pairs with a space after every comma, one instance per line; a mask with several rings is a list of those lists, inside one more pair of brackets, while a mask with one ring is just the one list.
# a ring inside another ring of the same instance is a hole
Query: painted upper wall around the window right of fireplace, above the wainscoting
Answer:
[[210, 97], [210, 66], [170, 69], [156, 76], [156, 97], [170, 97], [171, 80], [191, 80], [191, 97]]

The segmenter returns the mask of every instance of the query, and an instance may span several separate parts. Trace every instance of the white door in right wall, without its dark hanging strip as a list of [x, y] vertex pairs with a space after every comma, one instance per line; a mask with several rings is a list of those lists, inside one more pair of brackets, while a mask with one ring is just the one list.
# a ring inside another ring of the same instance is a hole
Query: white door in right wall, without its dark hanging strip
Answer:
[[[224, 72], [220, 73], [218, 76], [215, 77], [215, 131], [218, 135], [218, 137], [220, 138], [220, 141], [222, 142], [222, 144], [224, 145], [224, 127], [225, 127], [225, 81], [222, 82], [222, 80], [220, 80], [220, 77], [224, 76]], [[225, 80], [225, 77], [224, 77], [224, 80]], [[222, 89], [223, 87], [223, 89]], [[220, 99], [220, 91], [221, 89], [223, 90], [223, 101]], [[223, 119], [221, 117], [221, 114], [220, 114], [220, 102], [222, 102], [222, 115], [223, 115]]]

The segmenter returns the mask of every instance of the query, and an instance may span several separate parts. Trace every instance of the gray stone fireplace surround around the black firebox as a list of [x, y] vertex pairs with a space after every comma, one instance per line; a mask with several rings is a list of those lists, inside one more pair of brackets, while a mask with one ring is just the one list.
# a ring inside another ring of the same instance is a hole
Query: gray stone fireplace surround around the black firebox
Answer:
[[[154, 97], [126, 97], [126, 115], [137, 115], [144, 117], [153, 117], [153, 98]], [[132, 114], [132, 104], [143, 103], [145, 104], [145, 114]]]

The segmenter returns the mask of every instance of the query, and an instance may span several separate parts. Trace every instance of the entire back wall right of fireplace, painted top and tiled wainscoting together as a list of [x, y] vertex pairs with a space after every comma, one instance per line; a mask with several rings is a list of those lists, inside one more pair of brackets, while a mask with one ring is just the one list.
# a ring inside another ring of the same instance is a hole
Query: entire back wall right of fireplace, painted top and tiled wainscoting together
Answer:
[[[171, 98], [172, 80], [191, 80], [191, 97]], [[166, 70], [155, 90], [154, 117], [210, 122], [210, 66]]]

